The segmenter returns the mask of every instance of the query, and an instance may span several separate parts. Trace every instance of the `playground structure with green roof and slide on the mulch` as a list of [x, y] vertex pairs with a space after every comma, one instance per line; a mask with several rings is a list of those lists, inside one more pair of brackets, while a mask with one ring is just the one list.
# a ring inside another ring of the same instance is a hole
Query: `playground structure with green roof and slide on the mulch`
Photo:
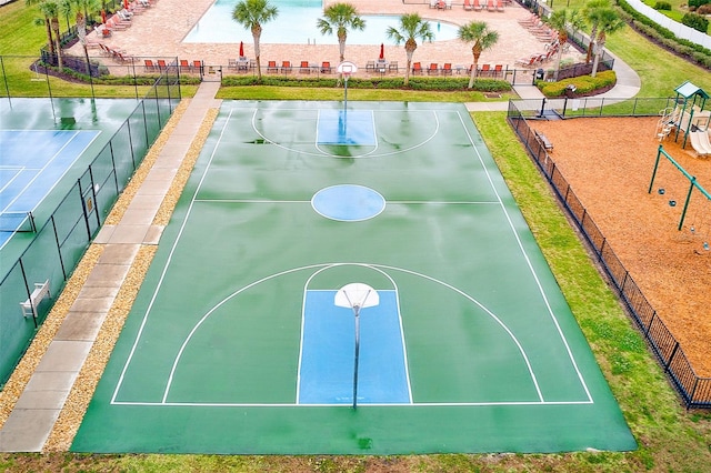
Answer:
[[709, 94], [701, 88], [687, 81], [674, 89], [677, 107], [662, 110], [657, 123], [657, 138], [663, 141], [672, 133], [674, 141], [683, 133], [682, 148], [691, 140], [691, 147], [698, 155], [711, 154], [711, 110], [704, 110]]

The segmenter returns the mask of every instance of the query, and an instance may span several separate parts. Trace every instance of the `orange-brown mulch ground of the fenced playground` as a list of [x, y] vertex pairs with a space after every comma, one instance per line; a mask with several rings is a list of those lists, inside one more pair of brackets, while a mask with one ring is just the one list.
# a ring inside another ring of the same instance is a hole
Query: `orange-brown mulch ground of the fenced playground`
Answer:
[[[553, 143], [558, 169], [699, 376], [711, 376], [711, 202], [694, 190], [681, 231], [689, 180], [664, 159], [650, 187], [659, 118], [535, 121]], [[711, 192], [711, 158], [698, 157], [683, 134], [662, 142]], [[663, 193], [660, 193], [663, 189]], [[672, 207], [670, 201], [674, 201]]]

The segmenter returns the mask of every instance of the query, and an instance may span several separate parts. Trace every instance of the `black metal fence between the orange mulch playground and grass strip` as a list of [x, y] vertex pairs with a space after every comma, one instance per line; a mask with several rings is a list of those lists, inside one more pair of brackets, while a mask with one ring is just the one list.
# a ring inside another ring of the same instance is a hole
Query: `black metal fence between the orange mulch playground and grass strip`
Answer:
[[529, 111], [521, 111], [521, 105], [523, 103], [509, 101], [509, 123], [594, 252], [611, 285], [631, 314], [671, 385], [679, 393], [682, 403], [687, 409], [711, 409], [711, 378], [697, 375], [679, 341], [624, 269], [622, 261], [615, 255], [602, 231], [560, 172], [551, 154], [537, 139], [527, 121]]

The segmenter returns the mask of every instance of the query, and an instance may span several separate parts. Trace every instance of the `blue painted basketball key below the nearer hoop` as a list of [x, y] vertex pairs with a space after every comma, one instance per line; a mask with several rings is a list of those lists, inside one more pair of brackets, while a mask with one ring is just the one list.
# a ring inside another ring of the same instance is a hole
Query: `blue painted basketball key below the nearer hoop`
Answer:
[[[360, 313], [359, 404], [411, 403], [404, 340], [394, 291]], [[337, 291], [308, 291], [298, 404], [353, 402], [354, 316], [333, 304]]]

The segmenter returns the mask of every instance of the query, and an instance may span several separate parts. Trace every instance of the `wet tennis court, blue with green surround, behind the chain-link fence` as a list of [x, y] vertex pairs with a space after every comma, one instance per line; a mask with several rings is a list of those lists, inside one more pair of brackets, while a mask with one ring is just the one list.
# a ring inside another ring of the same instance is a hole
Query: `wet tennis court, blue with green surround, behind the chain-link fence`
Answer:
[[0, 250], [4, 264], [14, 262], [33, 230], [47, 221], [136, 107], [136, 100], [116, 99], [0, 101]]

